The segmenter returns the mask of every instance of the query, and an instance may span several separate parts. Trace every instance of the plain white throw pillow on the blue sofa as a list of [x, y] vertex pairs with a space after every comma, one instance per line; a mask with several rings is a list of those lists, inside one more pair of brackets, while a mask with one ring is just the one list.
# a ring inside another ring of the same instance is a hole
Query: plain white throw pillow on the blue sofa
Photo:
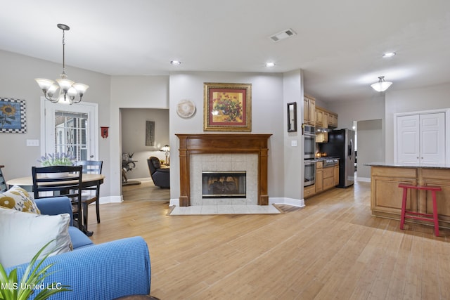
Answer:
[[51, 240], [45, 253], [69, 252], [69, 222], [69, 214], [46, 216], [0, 207], [0, 263], [4, 268], [27, 263]]

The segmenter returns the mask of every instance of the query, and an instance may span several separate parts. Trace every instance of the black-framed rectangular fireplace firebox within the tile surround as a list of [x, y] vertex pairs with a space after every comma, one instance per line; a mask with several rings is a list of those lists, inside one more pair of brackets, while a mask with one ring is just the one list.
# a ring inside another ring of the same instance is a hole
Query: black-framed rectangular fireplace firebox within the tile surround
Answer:
[[246, 171], [203, 171], [203, 198], [245, 198]]

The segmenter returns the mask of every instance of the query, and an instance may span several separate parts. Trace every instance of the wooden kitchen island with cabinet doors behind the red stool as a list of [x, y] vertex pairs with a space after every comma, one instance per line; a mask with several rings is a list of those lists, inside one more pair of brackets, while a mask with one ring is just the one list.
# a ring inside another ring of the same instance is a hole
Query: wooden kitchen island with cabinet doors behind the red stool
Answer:
[[[373, 216], [400, 219], [403, 189], [399, 183], [440, 186], [437, 192], [439, 226], [450, 228], [450, 164], [390, 164], [373, 162], [371, 166], [371, 210]], [[406, 209], [432, 213], [431, 192], [409, 190]], [[412, 220], [411, 220], [412, 221]], [[413, 220], [416, 223], [426, 223]]]

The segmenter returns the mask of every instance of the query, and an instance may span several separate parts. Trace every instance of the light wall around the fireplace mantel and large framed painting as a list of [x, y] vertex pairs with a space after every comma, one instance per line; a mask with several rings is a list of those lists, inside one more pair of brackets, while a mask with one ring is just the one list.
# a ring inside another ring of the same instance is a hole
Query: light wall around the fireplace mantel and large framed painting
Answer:
[[[272, 73], [184, 72], [170, 76], [170, 197], [179, 199], [179, 139], [176, 133], [203, 133], [203, 83], [252, 84], [252, 131], [272, 133], [269, 138], [269, 197], [283, 195], [283, 77]], [[195, 103], [197, 112], [190, 119], [176, 115], [180, 100]], [[207, 133], [221, 133], [211, 132]], [[242, 133], [242, 132], [226, 132]]]

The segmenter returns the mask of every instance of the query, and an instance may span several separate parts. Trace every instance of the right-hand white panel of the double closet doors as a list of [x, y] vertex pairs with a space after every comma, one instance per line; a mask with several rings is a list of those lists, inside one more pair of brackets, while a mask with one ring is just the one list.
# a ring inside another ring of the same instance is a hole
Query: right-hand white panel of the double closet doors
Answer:
[[445, 163], [444, 113], [420, 115], [420, 162]]

